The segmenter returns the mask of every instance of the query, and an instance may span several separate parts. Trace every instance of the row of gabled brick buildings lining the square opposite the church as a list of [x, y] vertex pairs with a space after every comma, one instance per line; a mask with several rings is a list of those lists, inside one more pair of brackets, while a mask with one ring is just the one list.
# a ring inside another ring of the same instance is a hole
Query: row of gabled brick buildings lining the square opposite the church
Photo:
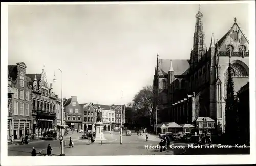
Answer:
[[[61, 125], [61, 98], [48, 84], [46, 72], [28, 74], [26, 64], [8, 65], [8, 140], [13, 135], [19, 139], [24, 134], [57, 130]], [[79, 104], [77, 97], [63, 99], [65, 123], [70, 128], [94, 130], [97, 109], [101, 107], [105, 130], [120, 125], [120, 105]], [[122, 105], [123, 123], [125, 105]]]

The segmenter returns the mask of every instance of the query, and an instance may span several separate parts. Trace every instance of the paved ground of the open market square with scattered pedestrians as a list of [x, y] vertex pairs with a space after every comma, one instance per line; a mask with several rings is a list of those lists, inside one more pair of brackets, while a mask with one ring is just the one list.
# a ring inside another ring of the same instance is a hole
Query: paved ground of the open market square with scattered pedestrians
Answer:
[[[125, 132], [124, 132], [125, 133]], [[81, 139], [82, 133], [70, 133], [65, 137], [65, 155], [66, 156], [97, 156], [97, 155], [203, 155], [203, 154], [249, 154], [250, 149], [247, 148], [188, 148], [190, 143], [176, 143], [176, 146], [184, 146], [185, 148], [168, 149], [165, 152], [160, 152], [159, 149], [145, 149], [148, 147], [156, 146], [159, 144], [160, 139], [156, 135], [150, 135], [146, 141], [145, 134], [137, 136], [132, 133], [132, 136], [125, 136], [123, 134], [123, 144], [120, 145], [120, 135], [118, 132], [109, 133], [105, 132], [104, 136], [107, 140], [102, 142], [90, 143], [90, 140]], [[74, 148], [69, 148], [69, 137], [74, 141]], [[28, 145], [8, 145], [8, 156], [31, 156], [31, 149], [34, 146], [38, 153], [46, 153], [47, 145], [51, 144], [53, 156], [60, 155], [59, 140], [40, 140], [30, 142]], [[171, 144], [174, 144], [173, 142]]]

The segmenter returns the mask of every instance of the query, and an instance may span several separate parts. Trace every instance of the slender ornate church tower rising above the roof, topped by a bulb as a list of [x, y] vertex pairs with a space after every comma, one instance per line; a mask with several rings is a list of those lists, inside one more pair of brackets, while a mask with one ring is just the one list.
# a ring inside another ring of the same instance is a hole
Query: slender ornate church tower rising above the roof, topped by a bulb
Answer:
[[193, 66], [196, 66], [199, 60], [203, 57], [205, 53], [205, 35], [203, 31], [203, 22], [202, 22], [203, 14], [200, 12], [200, 5], [198, 9], [198, 13], [196, 14], [196, 26], [194, 32], [194, 44], [192, 50], [192, 63]]

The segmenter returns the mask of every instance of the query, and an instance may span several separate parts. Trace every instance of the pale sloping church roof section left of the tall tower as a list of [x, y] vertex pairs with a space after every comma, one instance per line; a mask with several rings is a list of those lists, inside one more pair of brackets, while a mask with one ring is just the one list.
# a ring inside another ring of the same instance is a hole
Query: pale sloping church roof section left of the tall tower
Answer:
[[[170, 61], [171, 59], [159, 59], [159, 73], [168, 73], [170, 69]], [[172, 67], [174, 75], [185, 75], [189, 71], [189, 60], [172, 59]]]

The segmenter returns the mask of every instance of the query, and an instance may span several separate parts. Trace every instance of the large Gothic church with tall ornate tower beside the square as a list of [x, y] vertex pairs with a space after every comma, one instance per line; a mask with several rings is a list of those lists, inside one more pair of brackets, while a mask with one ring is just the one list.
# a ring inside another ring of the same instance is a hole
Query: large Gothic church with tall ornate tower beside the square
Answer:
[[207, 49], [202, 17], [199, 9], [190, 59], [160, 59], [157, 55], [153, 111], [158, 111], [161, 122], [178, 124], [210, 117], [215, 128], [224, 132], [228, 64], [237, 92], [249, 82], [249, 42], [235, 18], [220, 40], [212, 34]]

